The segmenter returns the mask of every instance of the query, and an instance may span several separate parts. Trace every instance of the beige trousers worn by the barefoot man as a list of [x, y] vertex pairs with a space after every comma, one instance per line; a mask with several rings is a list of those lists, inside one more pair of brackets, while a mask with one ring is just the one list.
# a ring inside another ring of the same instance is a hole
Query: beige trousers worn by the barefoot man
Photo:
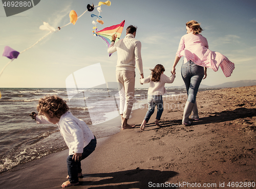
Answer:
[[120, 115], [123, 115], [123, 118], [129, 119], [133, 109], [135, 72], [126, 70], [116, 71], [116, 80], [119, 83]]

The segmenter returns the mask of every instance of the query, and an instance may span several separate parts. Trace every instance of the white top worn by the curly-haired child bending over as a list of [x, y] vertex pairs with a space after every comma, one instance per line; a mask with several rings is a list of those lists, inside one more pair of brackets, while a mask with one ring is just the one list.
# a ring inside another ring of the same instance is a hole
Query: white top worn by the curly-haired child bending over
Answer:
[[[45, 116], [36, 116], [36, 123], [50, 123]], [[60, 117], [57, 123], [60, 133], [69, 147], [69, 155], [74, 153], [82, 153], [92, 139], [93, 132], [88, 125], [72, 115], [71, 112], [66, 112]]]

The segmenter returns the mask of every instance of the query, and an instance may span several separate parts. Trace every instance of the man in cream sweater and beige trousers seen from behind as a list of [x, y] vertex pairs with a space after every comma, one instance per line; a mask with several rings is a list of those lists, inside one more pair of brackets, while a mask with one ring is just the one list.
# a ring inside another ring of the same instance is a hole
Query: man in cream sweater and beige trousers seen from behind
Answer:
[[135, 39], [137, 27], [130, 25], [126, 29], [126, 36], [116, 44], [116, 35], [112, 36], [108, 53], [117, 51], [116, 79], [120, 83], [120, 115], [122, 119], [122, 129], [134, 128], [127, 120], [130, 117], [135, 91], [135, 64], [139, 70], [141, 78], [143, 76], [143, 66], [141, 59], [141, 42]]

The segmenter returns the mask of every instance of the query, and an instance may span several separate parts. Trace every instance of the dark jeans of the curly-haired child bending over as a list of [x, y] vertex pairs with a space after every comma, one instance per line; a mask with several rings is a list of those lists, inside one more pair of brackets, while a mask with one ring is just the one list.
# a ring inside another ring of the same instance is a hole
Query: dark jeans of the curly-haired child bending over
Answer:
[[[82, 159], [88, 157], [96, 148], [96, 138], [91, 140], [91, 142], [83, 148]], [[81, 161], [75, 161], [72, 159], [73, 155], [69, 155], [67, 158], [67, 165], [68, 165], [68, 174], [69, 174], [69, 181], [70, 183], [77, 183], [78, 182], [78, 173], [82, 172], [81, 169]]]

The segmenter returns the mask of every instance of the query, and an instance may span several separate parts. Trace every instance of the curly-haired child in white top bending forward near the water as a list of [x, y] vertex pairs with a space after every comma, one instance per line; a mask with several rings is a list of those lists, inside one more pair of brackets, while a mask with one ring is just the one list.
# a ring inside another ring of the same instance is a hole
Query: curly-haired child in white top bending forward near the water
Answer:
[[87, 124], [68, 112], [66, 101], [58, 96], [41, 98], [37, 104], [36, 113], [30, 116], [37, 123], [52, 123], [59, 127], [60, 133], [69, 147], [67, 158], [69, 179], [62, 187], [79, 184], [78, 177], [82, 177], [81, 160], [88, 157], [96, 148], [96, 138]]

